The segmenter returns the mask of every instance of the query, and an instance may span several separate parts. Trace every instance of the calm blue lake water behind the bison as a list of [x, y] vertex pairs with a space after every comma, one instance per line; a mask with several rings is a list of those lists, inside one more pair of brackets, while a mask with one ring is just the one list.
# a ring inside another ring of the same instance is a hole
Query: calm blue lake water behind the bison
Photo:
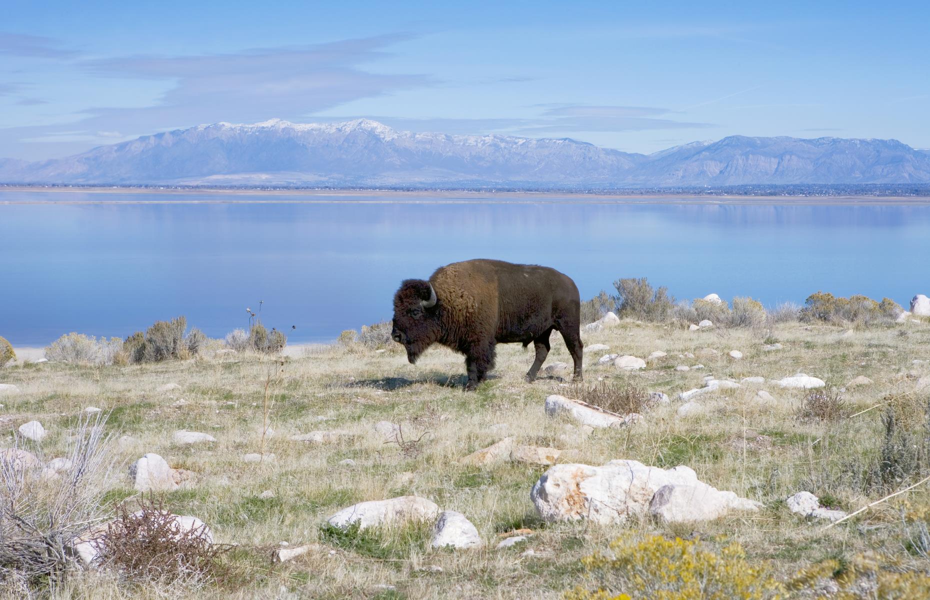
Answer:
[[930, 293], [930, 207], [3, 204], [114, 199], [185, 198], [0, 192], [0, 335], [15, 345], [69, 331], [125, 337], [185, 314], [221, 337], [264, 300], [268, 327], [332, 340], [391, 318], [402, 279], [472, 258], [555, 267], [584, 298], [637, 276], [677, 298], [766, 305], [818, 289], [905, 306]]

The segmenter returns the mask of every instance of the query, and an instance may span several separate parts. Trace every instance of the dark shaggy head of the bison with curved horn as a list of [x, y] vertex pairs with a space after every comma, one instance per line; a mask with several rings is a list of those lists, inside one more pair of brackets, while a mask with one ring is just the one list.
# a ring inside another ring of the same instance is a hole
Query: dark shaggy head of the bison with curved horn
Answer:
[[419, 355], [439, 340], [440, 324], [436, 291], [428, 281], [407, 279], [394, 294], [394, 322], [391, 338], [404, 344], [407, 360], [416, 363]]

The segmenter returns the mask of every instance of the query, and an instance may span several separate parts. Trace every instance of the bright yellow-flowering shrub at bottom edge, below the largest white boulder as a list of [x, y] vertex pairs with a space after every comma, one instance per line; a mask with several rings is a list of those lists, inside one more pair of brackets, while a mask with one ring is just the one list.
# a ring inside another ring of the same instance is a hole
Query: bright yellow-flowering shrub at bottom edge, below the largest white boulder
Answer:
[[746, 559], [737, 542], [717, 551], [699, 540], [636, 540], [628, 534], [610, 543], [610, 554], [593, 553], [581, 562], [598, 587], [578, 587], [565, 593], [566, 600], [768, 600], [784, 591], [763, 563]]

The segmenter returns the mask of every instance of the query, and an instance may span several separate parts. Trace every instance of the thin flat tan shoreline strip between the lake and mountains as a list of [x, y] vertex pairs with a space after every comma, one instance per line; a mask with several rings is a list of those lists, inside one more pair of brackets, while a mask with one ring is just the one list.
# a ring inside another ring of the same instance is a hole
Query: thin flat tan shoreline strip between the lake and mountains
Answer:
[[[94, 204], [686, 204], [686, 205], [785, 205], [785, 206], [930, 206], [930, 196], [844, 195], [746, 195], [696, 193], [582, 193], [494, 192], [467, 190], [319, 190], [230, 188], [139, 187], [35, 187], [2, 186], [0, 193], [100, 193], [171, 195], [261, 195], [267, 199], [240, 200], [0, 200], [0, 205], [94, 205]], [[284, 199], [279, 196], [307, 196]], [[375, 198], [372, 198], [375, 196]], [[379, 197], [380, 196], [380, 197]], [[355, 198], [355, 199], [353, 199]]]

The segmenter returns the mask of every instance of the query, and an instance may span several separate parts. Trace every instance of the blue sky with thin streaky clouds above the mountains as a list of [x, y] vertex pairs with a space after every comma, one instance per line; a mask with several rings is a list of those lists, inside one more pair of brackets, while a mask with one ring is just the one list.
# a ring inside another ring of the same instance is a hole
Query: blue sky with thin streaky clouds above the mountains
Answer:
[[733, 134], [930, 147], [927, 3], [756, 4], [7, 0], [0, 156], [359, 116], [642, 153]]

